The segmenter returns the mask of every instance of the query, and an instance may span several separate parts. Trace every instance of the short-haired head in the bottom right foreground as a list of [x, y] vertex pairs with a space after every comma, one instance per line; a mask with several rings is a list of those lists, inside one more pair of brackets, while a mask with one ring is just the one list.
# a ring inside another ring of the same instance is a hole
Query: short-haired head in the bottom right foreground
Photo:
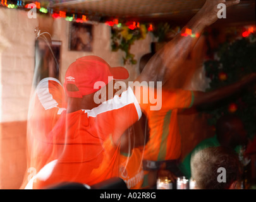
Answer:
[[239, 189], [240, 168], [238, 155], [224, 146], [199, 150], [191, 160], [196, 189]]

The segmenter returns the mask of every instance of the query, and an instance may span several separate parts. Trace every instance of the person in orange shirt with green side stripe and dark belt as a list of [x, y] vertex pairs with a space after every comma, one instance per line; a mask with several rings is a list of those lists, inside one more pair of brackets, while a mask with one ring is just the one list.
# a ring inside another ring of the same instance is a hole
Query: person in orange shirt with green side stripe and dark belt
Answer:
[[[154, 52], [145, 54], [140, 59], [139, 71], [142, 73]], [[172, 182], [181, 175], [178, 159], [181, 155], [181, 137], [177, 123], [178, 109], [152, 112], [147, 117], [149, 128], [148, 141], [143, 150], [143, 188], [155, 188], [157, 177], [167, 176]], [[172, 118], [171, 118], [172, 117]], [[167, 146], [168, 145], [168, 146]]]

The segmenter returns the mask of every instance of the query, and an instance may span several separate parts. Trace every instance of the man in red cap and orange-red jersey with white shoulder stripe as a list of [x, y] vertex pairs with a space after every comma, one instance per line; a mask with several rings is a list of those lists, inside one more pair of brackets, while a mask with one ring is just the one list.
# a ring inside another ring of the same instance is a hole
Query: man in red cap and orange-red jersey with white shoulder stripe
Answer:
[[51, 165], [55, 164], [50, 173], [47, 170], [47, 179], [41, 172], [34, 188], [59, 182], [93, 185], [118, 176], [118, 139], [128, 126], [138, 121], [141, 110], [131, 88], [121, 97], [106, 98], [107, 102], [101, 105], [93, 101], [99, 90], [94, 88], [95, 81], [107, 83], [109, 76], [126, 79], [128, 71], [111, 68], [97, 56], [81, 57], [70, 65], [64, 81], [68, 107], [49, 133], [51, 143], [62, 145], [63, 151], [55, 161], [52, 159]]

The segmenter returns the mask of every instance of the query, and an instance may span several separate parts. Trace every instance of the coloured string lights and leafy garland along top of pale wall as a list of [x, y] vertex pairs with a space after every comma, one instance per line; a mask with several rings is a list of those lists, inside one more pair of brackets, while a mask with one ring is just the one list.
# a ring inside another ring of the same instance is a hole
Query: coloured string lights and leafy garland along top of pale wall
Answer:
[[[47, 2], [46, 2], [47, 3]], [[86, 13], [71, 13], [69, 11], [64, 11], [62, 9], [52, 9], [49, 8], [48, 4], [44, 5], [38, 1], [16, 1], [16, 0], [1, 0], [0, 6], [11, 9], [23, 9], [29, 11], [33, 7], [29, 4], [34, 4], [36, 11], [41, 15], [50, 15], [52, 18], [64, 18], [66, 21], [76, 21], [78, 23], [85, 23], [90, 21], [92, 16], [87, 15]], [[124, 63], [136, 64], [134, 54], [131, 54], [130, 48], [136, 40], [145, 39], [148, 32], [154, 33], [154, 35], [161, 42], [163, 37], [166, 37], [166, 32], [176, 34], [180, 32], [180, 28], [176, 27], [175, 29], [170, 28], [166, 23], [165, 27], [162, 28], [162, 25], [153, 25], [152, 23], [141, 23], [139, 21], [125, 21], [123, 19], [112, 18], [107, 19], [106, 21], [101, 21], [106, 23], [111, 27], [111, 40], [112, 40], [112, 50], [123, 50], [125, 56], [123, 57]], [[188, 30], [189, 31], [189, 30]], [[185, 33], [186, 35], [186, 33]]]

